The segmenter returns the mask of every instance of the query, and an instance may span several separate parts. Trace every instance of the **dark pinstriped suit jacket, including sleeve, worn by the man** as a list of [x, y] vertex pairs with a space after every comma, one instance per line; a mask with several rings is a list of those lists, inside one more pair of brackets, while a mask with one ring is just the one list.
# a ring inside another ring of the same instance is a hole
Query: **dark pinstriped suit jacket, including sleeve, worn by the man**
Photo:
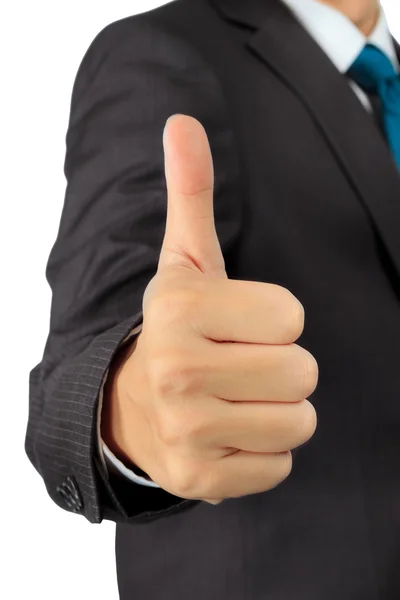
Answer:
[[[108, 480], [96, 450], [157, 268], [173, 113], [208, 132], [229, 277], [287, 287], [320, 368], [289, 478], [217, 507]], [[96, 36], [66, 146], [26, 451], [59, 506], [118, 522], [121, 598], [400, 598], [400, 177], [345, 77], [279, 0], [177, 0]]]

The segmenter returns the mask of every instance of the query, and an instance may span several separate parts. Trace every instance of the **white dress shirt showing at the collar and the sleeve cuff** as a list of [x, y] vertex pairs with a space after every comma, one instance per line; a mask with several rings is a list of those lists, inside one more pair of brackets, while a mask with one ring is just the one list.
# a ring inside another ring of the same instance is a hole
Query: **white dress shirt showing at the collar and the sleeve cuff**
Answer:
[[[321, 49], [327, 54], [332, 63], [340, 73], [345, 74], [353, 64], [357, 56], [363, 50], [366, 43], [374, 44], [388, 56], [394, 68], [400, 72], [400, 65], [396, 56], [396, 50], [391, 37], [388, 23], [383, 11], [380, 9], [379, 21], [369, 37], [366, 37], [348, 17], [339, 10], [323, 4], [319, 0], [282, 0], [291, 9], [294, 16], [315, 39]], [[368, 96], [353, 81], [349, 81], [354, 92], [368, 111], [372, 107]], [[136, 327], [129, 336], [141, 330], [141, 325]], [[108, 372], [105, 374], [106, 380]], [[98, 412], [98, 441], [99, 452], [105, 466], [110, 471], [119, 473], [135, 483], [151, 487], [160, 487], [153, 481], [136, 475], [132, 470], [119, 461], [100, 437], [100, 418], [103, 400], [103, 386], [100, 391]], [[104, 454], [103, 454], [104, 453]]]

